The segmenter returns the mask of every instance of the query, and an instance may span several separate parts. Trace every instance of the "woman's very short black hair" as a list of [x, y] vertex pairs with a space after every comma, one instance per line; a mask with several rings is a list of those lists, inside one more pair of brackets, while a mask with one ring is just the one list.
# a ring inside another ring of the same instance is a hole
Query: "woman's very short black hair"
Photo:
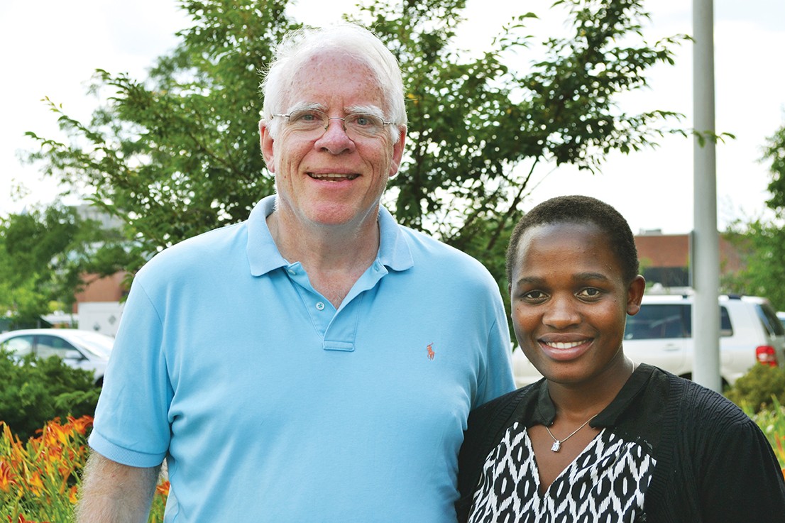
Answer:
[[630, 283], [638, 275], [637, 248], [630, 224], [619, 214], [618, 210], [590, 196], [572, 195], [557, 196], [540, 203], [520, 218], [507, 247], [507, 281], [513, 281], [513, 266], [517, 262], [520, 238], [531, 227], [557, 223], [597, 225], [608, 235], [608, 246], [611, 247], [626, 283]]

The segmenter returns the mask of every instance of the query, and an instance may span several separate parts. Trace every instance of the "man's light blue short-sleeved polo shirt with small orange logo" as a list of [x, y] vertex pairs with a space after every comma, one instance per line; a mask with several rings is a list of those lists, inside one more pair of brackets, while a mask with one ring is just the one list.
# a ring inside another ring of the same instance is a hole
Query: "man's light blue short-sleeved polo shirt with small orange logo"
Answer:
[[495, 281], [382, 209], [336, 310], [279, 254], [274, 202], [137, 274], [90, 446], [166, 458], [170, 523], [454, 523], [469, 410], [514, 388]]

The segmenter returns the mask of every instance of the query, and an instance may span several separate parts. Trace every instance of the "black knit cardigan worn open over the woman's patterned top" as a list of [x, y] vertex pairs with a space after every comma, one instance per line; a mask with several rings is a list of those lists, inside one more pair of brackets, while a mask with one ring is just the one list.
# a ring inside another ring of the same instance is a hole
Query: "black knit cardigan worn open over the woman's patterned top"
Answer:
[[[476, 408], [458, 458], [458, 521], [466, 521], [487, 455], [516, 421], [553, 422], [544, 379]], [[785, 481], [769, 441], [714, 391], [641, 364], [593, 421], [656, 460], [637, 521], [785, 522]]]

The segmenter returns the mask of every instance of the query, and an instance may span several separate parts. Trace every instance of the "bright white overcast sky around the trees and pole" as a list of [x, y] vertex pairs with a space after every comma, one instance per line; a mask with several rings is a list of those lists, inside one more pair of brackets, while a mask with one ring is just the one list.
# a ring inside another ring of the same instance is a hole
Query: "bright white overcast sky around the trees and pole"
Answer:
[[[308, 24], [338, 20], [356, 0], [300, 0], [292, 13]], [[549, 35], [563, 25], [548, 7], [551, 0], [468, 0], [467, 22], [458, 46], [483, 49], [509, 16], [533, 11], [531, 32]], [[692, 2], [648, 0], [652, 20], [644, 35], [652, 41], [692, 33]], [[785, 2], [783, 0], [715, 0], [715, 69], [717, 131], [736, 140], [717, 146], [719, 227], [736, 218], [761, 213], [767, 199], [768, 165], [761, 163], [765, 139], [785, 123]], [[18, 152], [34, 142], [32, 130], [57, 137], [54, 115], [43, 97], [65, 111], [88, 119], [97, 101], [86, 93], [96, 68], [128, 72], [142, 79], [155, 57], [177, 44], [175, 31], [188, 19], [175, 0], [3, 0], [0, 3], [0, 48], [3, 49], [5, 103], [0, 108], [0, 215], [19, 212], [31, 203], [47, 203], [57, 191], [41, 180], [35, 166], [23, 166]], [[530, 57], [521, 55], [528, 62]], [[677, 51], [675, 67], [659, 66], [649, 74], [651, 88], [621, 101], [623, 110], [666, 109], [682, 112], [692, 126], [692, 45]], [[582, 193], [604, 199], [630, 221], [633, 231], [692, 229], [692, 140], [669, 137], [655, 152], [612, 154], [603, 173], [592, 176], [569, 167], [541, 170], [539, 185], [524, 208], [550, 196]], [[24, 199], [13, 199], [23, 186]]]

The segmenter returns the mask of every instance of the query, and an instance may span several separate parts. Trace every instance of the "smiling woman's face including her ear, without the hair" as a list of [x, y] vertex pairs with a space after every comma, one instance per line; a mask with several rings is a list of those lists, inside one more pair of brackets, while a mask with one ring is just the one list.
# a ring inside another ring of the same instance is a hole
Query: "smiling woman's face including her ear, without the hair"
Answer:
[[524, 232], [510, 283], [521, 349], [553, 382], [582, 383], [623, 360], [627, 314], [640, 309], [644, 280], [624, 280], [607, 235], [591, 223]]

